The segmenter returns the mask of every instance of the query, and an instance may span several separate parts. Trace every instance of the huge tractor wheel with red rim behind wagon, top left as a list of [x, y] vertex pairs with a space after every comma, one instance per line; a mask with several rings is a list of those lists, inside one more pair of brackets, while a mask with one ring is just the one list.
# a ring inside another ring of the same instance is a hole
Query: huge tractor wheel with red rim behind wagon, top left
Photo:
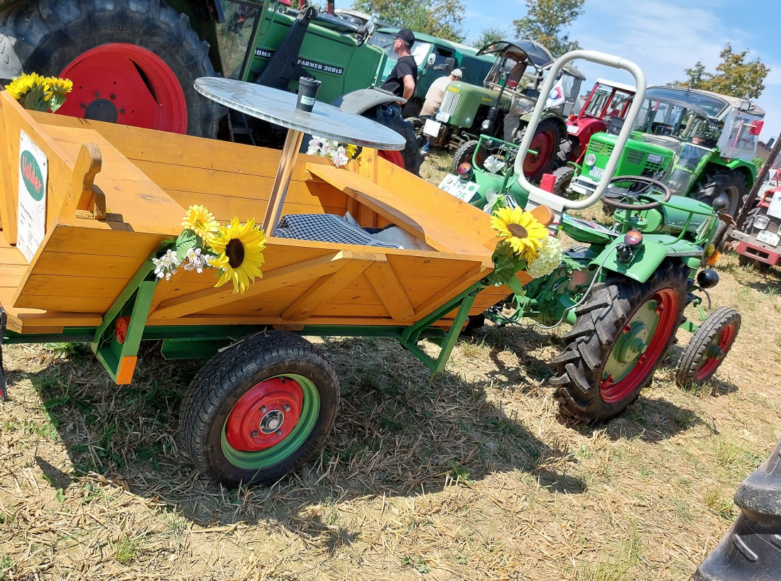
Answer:
[[162, 0], [32, 0], [0, 20], [23, 70], [73, 80], [59, 113], [216, 137], [223, 109], [198, 94], [209, 44]]

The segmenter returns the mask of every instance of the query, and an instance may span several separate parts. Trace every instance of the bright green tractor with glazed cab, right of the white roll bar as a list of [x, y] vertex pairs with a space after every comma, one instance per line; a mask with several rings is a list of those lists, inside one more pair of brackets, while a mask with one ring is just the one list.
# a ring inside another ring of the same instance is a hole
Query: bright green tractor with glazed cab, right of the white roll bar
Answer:
[[[650, 87], [615, 174], [658, 179], [677, 195], [711, 205], [722, 198], [726, 213], [735, 216], [757, 177], [752, 160], [764, 115], [757, 105], [736, 97]], [[569, 183], [573, 193], [594, 191], [615, 143], [611, 133], [591, 137], [583, 165], [576, 168], [580, 175]], [[566, 186], [557, 184], [558, 189]]]

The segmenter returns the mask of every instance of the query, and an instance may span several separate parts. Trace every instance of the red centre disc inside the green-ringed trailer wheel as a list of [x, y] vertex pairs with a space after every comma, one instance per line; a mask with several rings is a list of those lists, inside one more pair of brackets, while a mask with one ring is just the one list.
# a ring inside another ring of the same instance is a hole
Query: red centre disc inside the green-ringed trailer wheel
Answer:
[[289, 377], [272, 377], [250, 388], [225, 423], [228, 443], [243, 452], [259, 452], [283, 441], [301, 419], [304, 391]]

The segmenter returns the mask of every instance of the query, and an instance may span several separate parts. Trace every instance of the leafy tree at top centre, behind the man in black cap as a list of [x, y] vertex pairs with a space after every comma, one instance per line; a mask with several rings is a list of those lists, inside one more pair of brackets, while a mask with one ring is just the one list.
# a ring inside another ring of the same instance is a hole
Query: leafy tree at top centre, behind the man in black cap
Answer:
[[401, 28], [431, 34], [447, 41], [464, 40], [461, 0], [356, 0], [355, 9], [373, 14]]

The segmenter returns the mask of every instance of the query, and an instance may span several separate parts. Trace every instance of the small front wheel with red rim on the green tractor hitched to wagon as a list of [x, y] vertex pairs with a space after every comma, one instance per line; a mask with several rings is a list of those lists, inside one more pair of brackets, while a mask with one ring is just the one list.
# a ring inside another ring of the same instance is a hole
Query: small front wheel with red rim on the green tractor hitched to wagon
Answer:
[[682, 388], [697, 387], [708, 381], [732, 347], [740, 331], [740, 313], [729, 306], [719, 306], [683, 350], [677, 381]]

